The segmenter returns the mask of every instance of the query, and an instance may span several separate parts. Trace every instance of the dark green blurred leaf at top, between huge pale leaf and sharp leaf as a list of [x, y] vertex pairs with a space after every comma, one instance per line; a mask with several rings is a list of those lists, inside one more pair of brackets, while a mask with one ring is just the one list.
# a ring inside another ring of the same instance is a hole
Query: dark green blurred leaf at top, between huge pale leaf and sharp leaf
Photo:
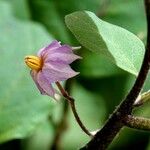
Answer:
[[[69, 36], [63, 19], [60, 17], [59, 9], [53, 0], [30, 0], [30, 11], [32, 18], [41, 22], [55, 38], [68, 42]], [[40, 10], [40, 11], [39, 11]]]

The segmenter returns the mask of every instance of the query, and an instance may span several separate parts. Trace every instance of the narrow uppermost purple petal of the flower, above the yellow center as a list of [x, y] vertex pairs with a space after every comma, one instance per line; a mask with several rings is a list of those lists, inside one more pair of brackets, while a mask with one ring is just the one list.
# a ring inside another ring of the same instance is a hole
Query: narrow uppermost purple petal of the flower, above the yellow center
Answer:
[[59, 47], [61, 47], [60, 42], [58, 42], [57, 40], [54, 40], [54, 41], [53, 41], [51, 44], [49, 44], [48, 46], [46, 46], [46, 47], [40, 49], [37, 55], [38, 55], [39, 57], [42, 57], [45, 53], [47, 53], [47, 52], [49, 52], [49, 51], [51, 51], [51, 50], [57, 49], [57, 48], [59, 48]]

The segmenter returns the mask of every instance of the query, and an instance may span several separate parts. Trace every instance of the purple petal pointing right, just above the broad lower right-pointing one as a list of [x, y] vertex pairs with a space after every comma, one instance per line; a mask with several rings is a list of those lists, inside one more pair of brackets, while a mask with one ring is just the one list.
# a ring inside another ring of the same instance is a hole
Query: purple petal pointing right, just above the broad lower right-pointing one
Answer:
[[76, 59], [80, 59], [80, 56], [77, 56], [73, 53], [53, 53], [48, 54], [47, 57], [44, 60], [44, 63], [51, 63], [52, 61], [58, 62], [58, 63], [66, 63], [71, 64]]

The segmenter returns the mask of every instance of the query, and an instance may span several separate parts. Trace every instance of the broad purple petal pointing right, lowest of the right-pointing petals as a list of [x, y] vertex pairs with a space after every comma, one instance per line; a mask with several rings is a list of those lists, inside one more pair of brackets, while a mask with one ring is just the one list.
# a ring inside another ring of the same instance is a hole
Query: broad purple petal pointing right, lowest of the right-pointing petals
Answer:
[[69, 65], [59, 62], [44, 63], [42, 72], [50, 83], [64, 81], [79, 74]]

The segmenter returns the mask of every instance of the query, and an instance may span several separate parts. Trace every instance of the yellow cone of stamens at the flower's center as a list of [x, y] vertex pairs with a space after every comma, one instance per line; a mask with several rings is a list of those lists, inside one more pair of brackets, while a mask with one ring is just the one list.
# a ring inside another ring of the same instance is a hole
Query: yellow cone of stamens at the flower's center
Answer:
[[29, 55], [25, 57], [25, 63], [32, 70], [39, 71], [42, 69], [42, 59], [37, 56]]

